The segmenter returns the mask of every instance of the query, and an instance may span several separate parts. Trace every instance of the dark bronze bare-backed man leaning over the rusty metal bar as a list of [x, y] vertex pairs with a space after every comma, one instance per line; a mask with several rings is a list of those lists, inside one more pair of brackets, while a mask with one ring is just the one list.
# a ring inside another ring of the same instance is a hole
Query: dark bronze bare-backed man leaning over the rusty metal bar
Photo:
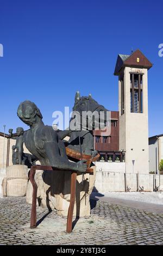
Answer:
[[86, 164], [83, 161], [68, 161], [62, 138], [70, 134], [70, 130], [57, 132], [52, 126], [44, 125], [39, 108], [31, 101], [22, 102], [18, 106], [17, 115], [30, 126], [30, 129], [24, 132], [24, 143], [41, 165], [53, 166], [57, 170], [85, 172]]

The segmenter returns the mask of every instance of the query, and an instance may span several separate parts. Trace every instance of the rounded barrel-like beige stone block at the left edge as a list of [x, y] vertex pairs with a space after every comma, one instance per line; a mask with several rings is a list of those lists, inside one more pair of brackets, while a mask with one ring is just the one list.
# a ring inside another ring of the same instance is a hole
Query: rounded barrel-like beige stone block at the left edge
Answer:
[[2, 182], [4, 197], [23, 197], [26, 196], [28, 185], [28, 167], [23, 164], [8, 166], [6, 177]]

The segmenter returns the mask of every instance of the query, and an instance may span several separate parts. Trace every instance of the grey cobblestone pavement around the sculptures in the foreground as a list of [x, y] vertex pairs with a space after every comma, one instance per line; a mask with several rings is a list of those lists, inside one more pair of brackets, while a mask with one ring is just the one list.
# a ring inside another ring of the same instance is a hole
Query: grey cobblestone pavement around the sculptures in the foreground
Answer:
[[66, 218], [37, 207], [36, 229], [30, 229], [26, 198], [0, 199], [0, 245], [163, 245], [163, 215], [108, 202], [91, 201], [91, 217], [81, 218], [71, 234]]

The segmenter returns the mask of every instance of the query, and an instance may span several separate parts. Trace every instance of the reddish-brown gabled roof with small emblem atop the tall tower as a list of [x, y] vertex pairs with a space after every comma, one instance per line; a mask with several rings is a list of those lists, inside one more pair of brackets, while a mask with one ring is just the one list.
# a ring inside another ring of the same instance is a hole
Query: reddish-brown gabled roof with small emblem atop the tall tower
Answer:
[[150, 69], [152, 68], [152, 63], [137, 49], [131, 55], [118, 54], [114, 75], [119, 75], [120, 70], [125, 66]]

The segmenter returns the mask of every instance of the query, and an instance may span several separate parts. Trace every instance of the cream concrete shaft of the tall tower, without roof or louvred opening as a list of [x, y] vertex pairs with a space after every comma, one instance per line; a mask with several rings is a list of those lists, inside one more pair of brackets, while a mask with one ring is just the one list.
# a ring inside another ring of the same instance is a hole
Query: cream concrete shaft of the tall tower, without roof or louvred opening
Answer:
[[[120, 112], [120, 150], [126, 151], [126, 171], [131, 173], [149, 173], [148, 150], [148, 81], [147, 69], [142, 69], [143, 75], [143, 113], [130, 112], [130, 74], [132, 68], [124, 69], [124, 114]], [[134, 69], [135, 71], [135, 69]], [[119, 89], [120, 90], [120, 89]], [[119, 97], [120, 99], [120, 97]], [[120, 106], [119, 102], [119, 106]], [[133, 149], [133, 150], [131, 150]]]

